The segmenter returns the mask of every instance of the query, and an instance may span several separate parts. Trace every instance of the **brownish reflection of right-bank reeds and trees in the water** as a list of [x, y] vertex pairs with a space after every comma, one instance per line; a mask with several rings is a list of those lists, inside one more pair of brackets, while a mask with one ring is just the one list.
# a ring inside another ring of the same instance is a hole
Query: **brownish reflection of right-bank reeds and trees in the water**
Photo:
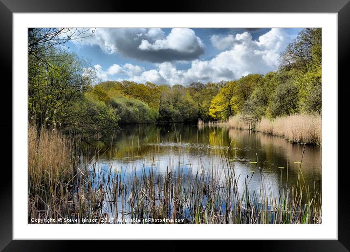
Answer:
[[[228, 133], [231, 139], [234, 139], [237, 155], [254, 159], [256, 153], [260, 162], [258, 166], [263, 168], [266, 173], [274, 173], [276, 177], [281, 179], [282, 184], [287, 181], [287, 159], [288, 159], [288, 184], [296, 184], [299, 163], [303, 153], [304, 145], [292, 144], [283, 137], [270, 136], [263, 133], [250, 133], [249, 131], [241, 131], [229, 129]], [[247, 148], [248, 147], [248, 148]], [[321, 148], [319, 146], [305, 146], [305, 153], [301, 164], [301, 172], [303, 174], [302, 182], [309, 186], [311, 193], [321, 187]]]

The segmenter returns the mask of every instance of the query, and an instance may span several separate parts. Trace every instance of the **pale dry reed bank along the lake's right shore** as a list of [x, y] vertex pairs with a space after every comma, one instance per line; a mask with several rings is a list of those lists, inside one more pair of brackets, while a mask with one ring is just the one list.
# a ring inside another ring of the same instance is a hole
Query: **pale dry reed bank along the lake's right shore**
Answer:
[[[241, 115], [231, 116], [228, 124], [232, 128], [249, 129], [249, 123]], [[296, 114], [277, 117], [274, 120], [263, 117], [251, 127], [258, 132], [284, 136], [292, 143], [321, 144], [322, 141], [320, 115]]]

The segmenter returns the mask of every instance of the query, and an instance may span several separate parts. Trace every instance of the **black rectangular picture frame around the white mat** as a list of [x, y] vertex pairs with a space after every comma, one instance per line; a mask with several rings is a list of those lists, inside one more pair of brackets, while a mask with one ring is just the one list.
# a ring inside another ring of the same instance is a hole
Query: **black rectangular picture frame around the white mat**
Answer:
[[[2, 77], [2, 98], [0, 129], [4, 136], [6, 148], [2, 151], [4, 160], [9, 165], [3, 166], [0, 197], [0, 250], [3, 251], [61, 251], [67, 246], [78, 244], [80, 249], [89, 248], [91, 242], [82, 241], [19, 241], [12, 240], [12, 14], [23, 12], [279, 12], [279, 13], [338, 13], [338, 164], [327, 169], [338, 169], [338, 240], [288, 240], [288, 241], [234, 241], [242, 246], [260, 251], [350, 251], [350, 197], [348, 187], [348, 170], [345, 156], [348, 149], [345, 143], [350, 140], [347, 131], [350, 122], [346, 120], [348, 112], [347, 96], [350, 84], [346, 79], [346, 61], [350, 56], [350, 2], [349, 0], [178, 0], [174, 6], [168, 4], [166, 9], [156, 9], [154, 6], [166, 6], [164, 1], [120, 1], [120, 0], [0, 0], [0, 73]], [[166, 10], [166, 11], [164, 11]], [[4, 79], [7, 79], [4, 81]], [[331, 85], [331, 83], [329, 83]], [[349, 98], [348, 98], [349, 99]], [[343, 116], [343, 117], [342, 117]], [[9, 133], [12, 134], [9, 134]], [[11, 143], [11, 144], [10, 144]], [[343, 146], [342, 146], [343, 145]], [[107, 242], [107, 241], [105, 241]], [[108, 242], [109, 243], [109, 242]], [[196, 246], [207, 246], [206, 242]], [[132, 245], [131, 245], [132, 246]], [[143, 247], [145, 244], [143, 244]], [[222, 245], [220, 245], [222, 246]], [[153, 246], [151, 246], [153, 247]], [[175, 246], [170, 246], [170, 249]], [[198, 249], [198, 248], [197, 248]]]

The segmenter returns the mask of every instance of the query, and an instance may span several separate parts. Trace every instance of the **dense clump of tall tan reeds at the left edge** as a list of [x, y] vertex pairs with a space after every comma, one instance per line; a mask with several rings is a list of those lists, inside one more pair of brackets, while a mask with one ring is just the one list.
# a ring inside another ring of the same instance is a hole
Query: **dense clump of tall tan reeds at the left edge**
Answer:
[[68, 200], [69, 183], [76, 174], [73, 141], [60, 132], [28, 128], [29, 217], [60, 216]]

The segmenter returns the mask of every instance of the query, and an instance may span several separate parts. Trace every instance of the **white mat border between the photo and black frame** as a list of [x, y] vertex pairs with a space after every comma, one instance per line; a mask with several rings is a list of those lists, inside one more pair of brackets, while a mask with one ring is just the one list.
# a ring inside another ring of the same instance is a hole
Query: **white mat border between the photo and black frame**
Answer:
[[[18, 239], [337, 239], [337, 14], [13, 15], [13, 238]], [[322, 27], [322, 224], [27, 224], [28, 27]]]

